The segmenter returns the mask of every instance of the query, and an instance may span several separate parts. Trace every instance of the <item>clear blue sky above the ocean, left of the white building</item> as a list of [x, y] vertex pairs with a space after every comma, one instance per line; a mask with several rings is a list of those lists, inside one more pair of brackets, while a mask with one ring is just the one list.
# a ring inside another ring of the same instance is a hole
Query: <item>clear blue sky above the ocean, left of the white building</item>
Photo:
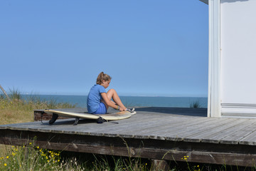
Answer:
[[0, 1], [0, 85], [87, 95], [207, 96], [208, 5], [199, 0]]

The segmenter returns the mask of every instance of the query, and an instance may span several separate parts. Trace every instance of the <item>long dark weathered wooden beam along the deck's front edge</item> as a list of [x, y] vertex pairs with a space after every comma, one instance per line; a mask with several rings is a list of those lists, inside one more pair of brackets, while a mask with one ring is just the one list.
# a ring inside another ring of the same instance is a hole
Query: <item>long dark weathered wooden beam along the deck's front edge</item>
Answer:
[[6, 145], [24, 145], [35, 137], [36, 145], [51, 150], [142, 157], [153, 160], [184, 161], [183, 156], [188, 156], [186, 162], [245, 167], [255, 166], [256, 160], [256, 149], [253, 145], [176, 142], [0, 129], [0, 143]]

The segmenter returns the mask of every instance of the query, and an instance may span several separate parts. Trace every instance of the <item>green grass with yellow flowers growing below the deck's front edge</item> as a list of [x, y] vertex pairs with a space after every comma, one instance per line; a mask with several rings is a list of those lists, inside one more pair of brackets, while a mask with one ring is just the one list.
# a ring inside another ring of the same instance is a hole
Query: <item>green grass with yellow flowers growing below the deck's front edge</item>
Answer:
[[33, 141], [23, 146], [1, 145], [0, 170], [150, 170], [138, 158], [75, 154], [46, 150]]

